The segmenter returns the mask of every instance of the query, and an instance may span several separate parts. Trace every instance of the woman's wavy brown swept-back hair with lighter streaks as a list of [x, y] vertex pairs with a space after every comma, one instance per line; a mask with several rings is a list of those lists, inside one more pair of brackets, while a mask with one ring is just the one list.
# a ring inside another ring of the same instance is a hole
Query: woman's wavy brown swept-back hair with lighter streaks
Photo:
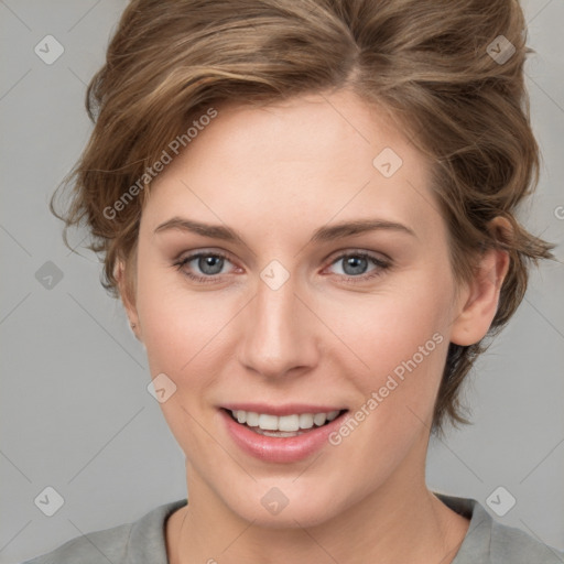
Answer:
[[[434, 163], [457, 280], [468, 280], [480, 251], [509, 252], [491, 337], [524, 295], [529, 261], [553, 258], [554, 246], [514, 218], [539, 176], [529, 52], [514, 0], [133, 0], [88, 87], [95, 128], [63, 183], [72, 198], [61, 215], [55, 194], [51, 210], [66, 224], [65, 242], [69, 226], [86, 224], [88, 248], [104, 256], [102, 284], [118, 296], [115, 268], [134, 261], [148, 170], [172, 140], [223, 102], [346, 86], [386, 108]], [[496, 216], [512, 232], [490, 232]], [[446, 417], [469, 423], [459, 388], [486, 347], [449, 345], [434, 432]]]

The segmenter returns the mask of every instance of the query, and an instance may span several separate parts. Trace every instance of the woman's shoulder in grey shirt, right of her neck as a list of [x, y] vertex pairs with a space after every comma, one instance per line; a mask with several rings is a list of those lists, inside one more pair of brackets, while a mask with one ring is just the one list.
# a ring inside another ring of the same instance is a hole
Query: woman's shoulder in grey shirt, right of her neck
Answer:
[[452, 564], [563, 564], [564, 552], [531, 534], [496, 521], [475, 499], [436, 494], [446, 506], [470, 519]]

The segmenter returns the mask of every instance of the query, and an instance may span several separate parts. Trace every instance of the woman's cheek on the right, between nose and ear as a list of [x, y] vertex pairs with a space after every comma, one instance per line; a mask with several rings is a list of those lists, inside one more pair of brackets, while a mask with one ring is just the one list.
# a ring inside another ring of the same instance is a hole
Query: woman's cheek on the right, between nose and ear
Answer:
[[352, 352], [339, 347], [343, 373], [360, 392], [359, 406], [378, 412], [373, 425], [409, 432], [409, 422], [421, 426], [417, 416], [432, 415], [448, 348], [452, 290], [447, 273], [441, 279], [422, 270], [404, 286], [358, 295], [346, 307], [326, 304], [327, 325]]

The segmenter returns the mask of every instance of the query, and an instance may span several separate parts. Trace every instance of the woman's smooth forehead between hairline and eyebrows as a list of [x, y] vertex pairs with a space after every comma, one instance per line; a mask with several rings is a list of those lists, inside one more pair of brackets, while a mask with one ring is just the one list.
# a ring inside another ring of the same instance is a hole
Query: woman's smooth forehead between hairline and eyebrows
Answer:
[[[435, 228], [430, 169], [405, 133], [349, 91], [308, 95], [218, 116], [153, 181], [149, 228], [182, 212], [252, 230], [375, 217]], [[258, 234], [257, 234], [258, 235]]]

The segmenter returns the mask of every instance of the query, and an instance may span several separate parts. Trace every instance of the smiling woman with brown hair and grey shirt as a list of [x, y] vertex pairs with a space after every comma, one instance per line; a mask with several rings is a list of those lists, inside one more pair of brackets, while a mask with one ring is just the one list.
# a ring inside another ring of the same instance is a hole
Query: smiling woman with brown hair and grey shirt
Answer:
[[514, 217], [522, 31], [510, 0], [128, 6], [58, 215], [145, 347], [188, 500], [31, 562], [562, 561], [425, 485], [552, 257]]

